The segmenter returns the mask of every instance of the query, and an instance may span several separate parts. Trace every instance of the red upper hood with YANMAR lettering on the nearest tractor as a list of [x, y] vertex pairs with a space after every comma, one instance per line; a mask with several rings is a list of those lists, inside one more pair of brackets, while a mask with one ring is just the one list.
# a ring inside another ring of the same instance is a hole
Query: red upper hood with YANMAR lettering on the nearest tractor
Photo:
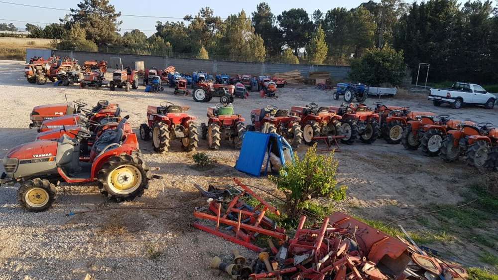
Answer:
[[57, 153], [57, 144], [57, 141], [49, 140], [27, 142], [10, 149], [6, 157], [19, 160], [52, 157]]

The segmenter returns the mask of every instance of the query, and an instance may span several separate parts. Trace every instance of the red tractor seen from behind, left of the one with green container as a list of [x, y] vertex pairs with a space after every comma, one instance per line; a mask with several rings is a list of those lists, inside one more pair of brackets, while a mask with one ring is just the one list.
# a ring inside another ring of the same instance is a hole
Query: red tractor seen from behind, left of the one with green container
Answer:
[[156, 152], [167, 151], [170, 140], [179, 139], [182, 148], [192, 151], [197, 148], [199, 133], [195, 117], [188, 115], [190, 107], [176, 106], [163, 101], [160, 106], [147, 106], [147, 124], [140, 125], [140, 138], [149, 140]]

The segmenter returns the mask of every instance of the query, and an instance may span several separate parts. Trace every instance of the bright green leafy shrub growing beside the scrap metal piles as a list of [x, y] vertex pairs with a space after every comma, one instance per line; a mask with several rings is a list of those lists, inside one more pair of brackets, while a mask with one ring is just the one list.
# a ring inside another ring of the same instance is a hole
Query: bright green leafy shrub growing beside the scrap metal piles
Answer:
[[285, 210], [290, 218], [297, 218], [313, 198], [328, 197], [336, 201], [346, 198], [346, 186], [336, 180], [338, 161], [334, 153], [319, 155], [316, 144], [310, 147], [303, 159], [294, 155], [294, 162], [279, 170], [279, 176], [270, 176], [271, 182], [285, 193]]

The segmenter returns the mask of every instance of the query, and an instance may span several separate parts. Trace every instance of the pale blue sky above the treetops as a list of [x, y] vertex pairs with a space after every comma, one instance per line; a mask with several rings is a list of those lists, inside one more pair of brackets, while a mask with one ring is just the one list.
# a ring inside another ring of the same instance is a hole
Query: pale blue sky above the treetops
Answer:
[[[80, 0], [6, 0], [8, 2], [22, 3], [27, 5], [38, 5], [69, 9], [76, 7]], [[352, 8], [367, 0], [266, 0], [270, 5], [274, 14], [280, 14], [283, 10], [290, 8], [304, 8], [309, 14], [312, 14], [315, 9], [320, 9], [325, 12], [334, 7]], [[153, 16], [171, 16], [183, 17], [186, 14], [195, 15], [201, 7], [209, 6], [214, 9], [215, 15], [222, 18], [230, 14], [238, 13], [242, 9], [250, 14], [255, 10], [256, 5], [260, 0], [205, 0], [205, 1], [175, 1], [175, 0], [111, 0], [111, 4], [115, 5], [118, 11], [123, 14], [138, 14], [138, 15], [153, 15]], [[411, 2], [411, 1], [408, 1]], [[0, 3], [0, 18], [19, 21], [35, 22], [58, 22], [60, 17], [63, 17], [67, 12], [62, 10], [41, 9], [35, 7], [17, 6], [7, 3]], [[6, 20], [1, 20], [5, 22]], [[122, 31], [125, 29], [138, 28], [145, 34], [151, 35], [155, 31], [155, 23], [157, 20], [165, 21], [166, 19], [159, 18], [141, 18], [122, 16], [123, 24]], [[171, 19], [175, 21], [175, 19]], [[9, 22], [9, 21], [6, 21]], [[24, 27], [25, 22], [13, 22], [17, 27]], [[44, 26], [44, 24], [38, 24]]]

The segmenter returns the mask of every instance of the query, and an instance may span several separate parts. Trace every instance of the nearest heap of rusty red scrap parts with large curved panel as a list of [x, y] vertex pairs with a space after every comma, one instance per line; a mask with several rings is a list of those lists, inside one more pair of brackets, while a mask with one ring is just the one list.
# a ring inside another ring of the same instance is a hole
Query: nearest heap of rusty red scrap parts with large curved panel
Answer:
[[[232, 212], [233, 215], [239, 212]], [[215, 216], [216, 217], [216, 216]], [[237, 217], [233, 217], [236, 218]], [[234, 252], [233, 264], [218, 257], [211, 267], [237, 280], [464, 280], [464, 268], [448, 264], [410, 242], [386, 235], [346, 214], [335, 212], [321, 226], [305, 228], [301, 216], [293, 237], [256, 250], [250, 260]]]

